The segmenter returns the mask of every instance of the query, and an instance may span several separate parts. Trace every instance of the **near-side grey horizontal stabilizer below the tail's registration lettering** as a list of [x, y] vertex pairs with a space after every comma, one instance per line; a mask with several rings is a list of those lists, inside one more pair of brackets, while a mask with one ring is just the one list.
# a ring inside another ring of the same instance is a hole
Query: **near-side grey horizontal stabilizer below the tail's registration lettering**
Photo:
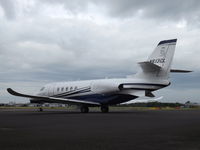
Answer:
[[160, 71], [161, 69], [160, 66], [155, 65], [149, 61], [139, 62], [138, 64], [142, 68], [143, 72], [155, 72], [155, 71]]

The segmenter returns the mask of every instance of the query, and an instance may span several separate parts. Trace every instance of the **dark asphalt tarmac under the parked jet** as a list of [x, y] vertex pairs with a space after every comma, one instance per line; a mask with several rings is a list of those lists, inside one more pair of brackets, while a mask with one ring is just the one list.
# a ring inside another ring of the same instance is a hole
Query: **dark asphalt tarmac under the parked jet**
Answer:
[[0, 150], [199, 150], [200, 110], [0, 111]]

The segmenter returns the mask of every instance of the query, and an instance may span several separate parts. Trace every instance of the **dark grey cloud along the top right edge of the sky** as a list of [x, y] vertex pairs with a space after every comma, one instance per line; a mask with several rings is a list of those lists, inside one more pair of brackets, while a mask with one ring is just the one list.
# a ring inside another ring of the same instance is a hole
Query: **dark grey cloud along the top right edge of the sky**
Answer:
[[[106, 3], [106, 1], [104, 1]], [[111, 15], [117, 16], [132, 16], [137, 11], [143, 10], [145, 16], [153, 18], [183, 18], [193, 17], [192, 13], [198, 12], [199, 14], [199, 1], [160, 1], [160, 0], [110, 0], [107, 1]], [[197, 16], [198, 16], [197, 14]]]

